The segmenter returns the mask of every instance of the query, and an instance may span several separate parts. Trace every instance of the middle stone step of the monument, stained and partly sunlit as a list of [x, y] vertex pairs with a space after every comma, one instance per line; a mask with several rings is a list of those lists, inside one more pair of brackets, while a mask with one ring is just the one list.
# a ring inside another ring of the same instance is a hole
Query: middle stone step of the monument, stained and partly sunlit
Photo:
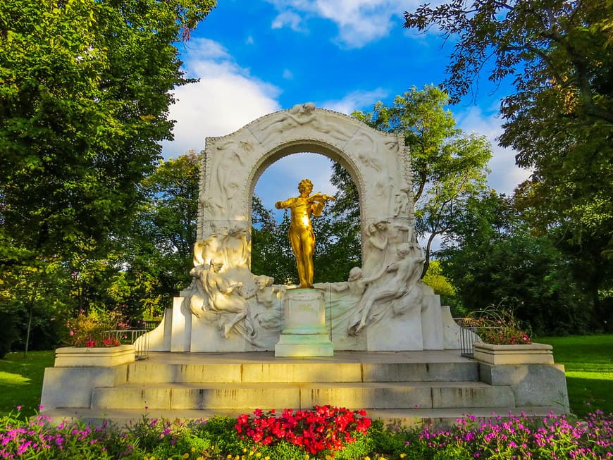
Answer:
[[510, 387], [481, 382], [128, 383], [94, 388], [92, 409], [247, 410], [512, 407]]

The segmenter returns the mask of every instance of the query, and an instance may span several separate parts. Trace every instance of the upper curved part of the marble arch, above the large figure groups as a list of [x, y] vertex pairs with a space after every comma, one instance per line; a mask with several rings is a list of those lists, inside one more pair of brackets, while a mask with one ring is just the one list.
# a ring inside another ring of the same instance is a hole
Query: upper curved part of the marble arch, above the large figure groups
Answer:
[[217, 223], [248, 222], [259, 175], [279, 158], [301, 151], [328, 156], [352, 175], [365, 228], [378, 220], [412, 228], [411, 165], [402, 139], [307, 103], [258, 118], [230, 135], [206, 139], [198, 239]]

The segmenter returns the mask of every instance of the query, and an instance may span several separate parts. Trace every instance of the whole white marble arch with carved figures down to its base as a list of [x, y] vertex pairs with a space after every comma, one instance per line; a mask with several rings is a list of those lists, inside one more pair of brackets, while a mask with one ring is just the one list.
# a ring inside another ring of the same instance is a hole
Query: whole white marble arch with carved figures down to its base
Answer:
[[268, 166], [302, 151], [338, 161], [352, 175], [360, 197], [361, 268], [352, 270], [346, 282], [315, 285], [318, 295], [323, 291], [334, 349], [459, 348], [460, 331], [449, 307], [441, 307], [419, 279], [423, 254], [414, 235], [404, 139], [307, 103], [206, 139], [192, 283], [175, 297], [159, 328], [144, 337], [150, 349], [275, 349], [292, 287], [251, 272], [252, 195]]

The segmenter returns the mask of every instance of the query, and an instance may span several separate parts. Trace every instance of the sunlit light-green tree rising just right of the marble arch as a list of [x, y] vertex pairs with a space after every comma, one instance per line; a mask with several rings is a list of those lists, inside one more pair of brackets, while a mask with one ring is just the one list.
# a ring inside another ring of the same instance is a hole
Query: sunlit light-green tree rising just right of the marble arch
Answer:
[[423, 275], [435, 237], [447, 231], [466, 199], [484, 189], [492, 155], [485, 137], [456, 127], [445, 109], [447, 101], [440, 89], [426, 86], [411, 88], [391, 106], [378, 102], [371, 113], [354, 113], [373, 128], [404, 134], [411, 155], [416, 231], [426, 236]]

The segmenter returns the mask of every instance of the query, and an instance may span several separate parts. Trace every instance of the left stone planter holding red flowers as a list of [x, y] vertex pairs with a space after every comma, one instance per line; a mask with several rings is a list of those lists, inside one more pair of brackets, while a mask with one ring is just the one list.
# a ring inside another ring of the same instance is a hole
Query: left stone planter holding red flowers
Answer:
[[135, 361], [134, 345], [63, 347], [56, 349], [55, 367], [112, 367]]

